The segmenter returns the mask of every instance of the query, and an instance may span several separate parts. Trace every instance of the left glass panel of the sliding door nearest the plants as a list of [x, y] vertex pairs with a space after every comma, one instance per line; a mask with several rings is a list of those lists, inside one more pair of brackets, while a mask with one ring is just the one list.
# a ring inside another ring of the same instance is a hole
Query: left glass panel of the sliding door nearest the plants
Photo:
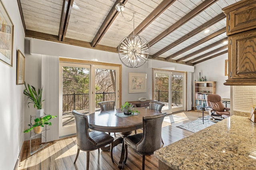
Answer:
[[88, 114], [90, 110], [90, 65], [60, 63], [62, 103], [59, 114], [60, 136], [75, 134], [72, 110]]

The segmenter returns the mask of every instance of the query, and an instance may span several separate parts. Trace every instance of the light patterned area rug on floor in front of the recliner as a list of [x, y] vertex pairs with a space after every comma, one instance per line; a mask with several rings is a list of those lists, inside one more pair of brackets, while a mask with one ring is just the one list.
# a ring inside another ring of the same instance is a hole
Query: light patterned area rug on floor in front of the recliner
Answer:
[[[206, 116], [206, 118], [209, 118], [209, 116]], [[185, 130], [188, 130], [190, 132], [198, 132], [206, 127], [209, 127], [211, 125], [214, 125], [215, 123], [212, 121], [204, 120], [204, 124], [202, 119], [197, 119], [195, 121], [191, 121], [189, 123], [185, 123], [183, 125], [177, 126], [178, 128], [182, 128]]]

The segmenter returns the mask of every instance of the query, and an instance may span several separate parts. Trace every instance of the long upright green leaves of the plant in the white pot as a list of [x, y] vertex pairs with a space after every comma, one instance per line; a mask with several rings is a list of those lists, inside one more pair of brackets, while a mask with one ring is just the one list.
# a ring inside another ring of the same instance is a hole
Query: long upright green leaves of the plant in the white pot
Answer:
[[26, 86], [26, 82], [24, 82], [24, 85], [26, 89], [24, 89], [23, 94], [28, 96], [28, 100], [30, 101], [28, 102], [28, 108], [29, 104], [32, 103], [34, 104], [34, 108], [42, 109], [42, 102], [44, 101], [42, 100], [43, 87], [42, 89], [38, 89], [37, 93], [36, 88], [34, 86], [30, 86], [29, 84], [28, 86]]

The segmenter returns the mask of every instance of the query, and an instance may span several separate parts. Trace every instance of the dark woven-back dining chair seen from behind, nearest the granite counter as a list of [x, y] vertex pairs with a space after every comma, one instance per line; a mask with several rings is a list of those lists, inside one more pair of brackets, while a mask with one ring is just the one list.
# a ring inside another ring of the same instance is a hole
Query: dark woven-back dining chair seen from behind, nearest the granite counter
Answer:
[[162, 144], [162, 123], [167, 113], [143, 117], [143, 133], [134, 134], [124, 138], [125, 160], [128, 157], [128, 147], [135, 152], [142, 154], [142, 170], [145, 169], [145, 155], [154, 154], [155, 150], [161, 148]]

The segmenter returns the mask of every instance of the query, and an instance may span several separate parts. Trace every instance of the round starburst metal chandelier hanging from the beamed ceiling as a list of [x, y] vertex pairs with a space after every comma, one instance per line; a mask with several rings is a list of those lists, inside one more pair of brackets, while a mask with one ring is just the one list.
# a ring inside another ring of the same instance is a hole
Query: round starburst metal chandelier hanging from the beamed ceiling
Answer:
[[[122, 17], [124, 18], [124, 15], [122, 13], [122, 11], [124, 10], [124, 4], [117, 4], [116, 10], [118, 10], [118, 12], [121, 12]], [[124, 18], [124, 20], [126, 19]], [[131, 20], [126, 21], [130, 22], [132, 20], [133, 35], [123, 38], [123, 40], [119, 43], [118, 55], [121, 62], [126, 67], [140, 67], [148, 59], [150, 47], [145, 38], [143, 38], [142, 36], [134, 35], [134, 14]]]

